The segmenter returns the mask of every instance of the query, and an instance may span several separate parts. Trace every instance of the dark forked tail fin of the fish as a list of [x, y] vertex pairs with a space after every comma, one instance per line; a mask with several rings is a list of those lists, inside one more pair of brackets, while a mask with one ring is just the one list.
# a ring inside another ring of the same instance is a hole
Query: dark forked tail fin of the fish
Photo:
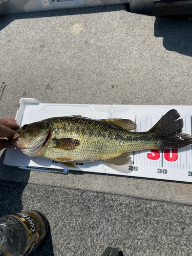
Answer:
[[192, 143], [189, 134], [182, 134], [183, 119], [177, 110], [169, 110], [150, 130], [158, 135], [159, 150], [174, 150]]

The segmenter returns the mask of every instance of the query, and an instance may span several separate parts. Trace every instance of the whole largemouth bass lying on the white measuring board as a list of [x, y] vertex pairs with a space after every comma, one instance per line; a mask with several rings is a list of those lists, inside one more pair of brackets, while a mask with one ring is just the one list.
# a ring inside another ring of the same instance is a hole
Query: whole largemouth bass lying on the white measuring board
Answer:
[[182, 134], [179, 117], [176, 110], [170, 110], [147, 132], [132, 132], [136, 124], [129, 119], [53, 117], [16, 129], [10, 142], [29, 157], [71, 167], [97, 160], [123, 165], [130, 162], [132, 151], [173, 150], [191, 144], [191, 135]]

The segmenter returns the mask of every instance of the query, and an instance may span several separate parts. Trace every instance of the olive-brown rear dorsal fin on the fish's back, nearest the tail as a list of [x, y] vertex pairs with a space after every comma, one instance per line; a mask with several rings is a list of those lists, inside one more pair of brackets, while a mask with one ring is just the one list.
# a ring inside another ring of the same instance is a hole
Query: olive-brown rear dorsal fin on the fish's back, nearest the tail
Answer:
[[130, 119], [109, 118], [109, 119], [101, 119], [101, 121], [115, 124], [126, 131], [135, 130], [137, 127], [137, 124]]

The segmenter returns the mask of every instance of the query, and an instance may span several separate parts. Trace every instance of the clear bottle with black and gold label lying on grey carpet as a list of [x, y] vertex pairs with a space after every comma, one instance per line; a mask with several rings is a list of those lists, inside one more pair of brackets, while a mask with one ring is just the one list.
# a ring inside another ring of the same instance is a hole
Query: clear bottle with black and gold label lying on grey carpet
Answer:
[[0, 256], [23, 256], [46, 239], [48, 221], [38, 211], [29, 210], [0, 218]]

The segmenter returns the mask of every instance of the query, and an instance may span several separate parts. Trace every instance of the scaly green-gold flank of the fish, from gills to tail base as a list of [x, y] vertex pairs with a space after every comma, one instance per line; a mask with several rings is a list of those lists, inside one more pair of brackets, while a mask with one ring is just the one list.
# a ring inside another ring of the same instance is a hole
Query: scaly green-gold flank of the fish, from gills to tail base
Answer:
[[[71, 119], [73, 127], [71, 126]], [[50, 120], [55, 127], [55, 133], [52, 138], [75, 138], [80, 141], [80, 145], [74, 151], [57, 150], [54, 144], [48, 144], [39, 152], [38, 156], [45, 154], [45, 157], [62, 155], [64, 157], [72, 157], [78, 161], [93, 161], [96, 159], [108, 159], [116, 157], [122, 152], [136, 151], [141, 147], [151, 148], [155, 146], [155, 140], [152, 140], [146, 133], [133, 133], [121, 131], [113, 125], [108, 125], [104, 121], [97, 121], [83, 118], [60, 118]], [[64, 122], [65, 129], [57, 130], [57, 124]], [[82, 131], [83, 128], [83, 131]], [[58, 135], [57, 135], [58, 134]], [[51, 139], [50, 139], [51, 140]], [[147, 147], [148, 146], [148, 147]], [[157, 147], [157, 145], [156, 145]]]

